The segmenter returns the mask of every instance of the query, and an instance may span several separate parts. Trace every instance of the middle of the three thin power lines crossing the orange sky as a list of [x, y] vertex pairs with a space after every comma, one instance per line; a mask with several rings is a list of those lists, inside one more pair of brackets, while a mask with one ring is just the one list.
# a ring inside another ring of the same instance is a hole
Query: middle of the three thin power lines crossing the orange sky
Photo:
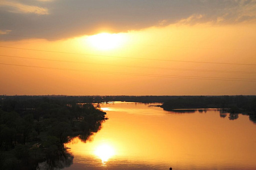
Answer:
[[104, 63], [90, 63], [90, 62], [77, 62], [77, 61], [65, 61], [58, 59], [45, 59], [45, 58], [32, 58], [32, 57], [20, 57], [20, 56], [8, 56], [1, 55], [4, 57], [14, 57], [14, 58], [24, 58], [24, 59], [38, 59], [43, 61], [56, 61], [56, 62], [68, 62], [68, 63], [79, 63], [79, 64], [90, 64], [90, 65], [105, 65], [105, 66], [117, 66], [117, 67], [132, 67], [132, 68], [141, 68], [141, 69], [159, 69], [159, 70], [179, 70], [179, 71], [200, 71], [200, 72], [210, 72], [210, 73], [234, 73], [234, 74], [255, 74], [254, 71], [226, 71], [226, 70], [197, 70], [197, 69], [174, 69], [167, 67], [144, 67], [144, 66], [130, 66], [130, 65], [113, 65], [113, 64], [104, 64]]

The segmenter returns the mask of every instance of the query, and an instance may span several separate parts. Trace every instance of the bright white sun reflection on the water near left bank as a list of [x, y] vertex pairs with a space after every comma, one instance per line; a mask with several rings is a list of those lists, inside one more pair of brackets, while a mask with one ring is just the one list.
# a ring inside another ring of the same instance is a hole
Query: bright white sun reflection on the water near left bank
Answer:
[[101, 159], [102, 163], [105, 163], [109, 160], [109, 158], [114, 156], [115, 151], [114, 151], [113, 147], [111, 147], [107, 144], [103, 144], [96, 148], [96, 150], [94, 151], [94, 154], [97, 155], [98, 158]]

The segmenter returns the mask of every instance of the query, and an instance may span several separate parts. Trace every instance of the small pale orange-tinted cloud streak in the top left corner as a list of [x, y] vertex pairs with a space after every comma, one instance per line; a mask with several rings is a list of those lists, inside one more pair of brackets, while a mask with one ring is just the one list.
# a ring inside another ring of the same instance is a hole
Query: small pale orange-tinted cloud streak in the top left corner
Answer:
[[43, 7], [38, 6], [31, 6], [31, 5], [24, 5], [19, 2], [11, 2], [11, 1], [1, 1], [0, 6], [6, 6], [9, 8], [8, 12], [15, 12], [15, 13], [34, 13], [39, 15], [46, 15], [49, 14], [48, 10]]

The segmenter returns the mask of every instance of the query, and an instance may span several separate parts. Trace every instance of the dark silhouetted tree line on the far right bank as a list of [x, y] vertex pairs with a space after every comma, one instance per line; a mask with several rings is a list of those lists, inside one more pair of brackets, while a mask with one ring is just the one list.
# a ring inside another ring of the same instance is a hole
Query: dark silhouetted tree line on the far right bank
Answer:
[[[218, 108], [221, 112], [230, 113], [231, 116], [238, 116], [239, 113], [246, 114], [256, 123], [256, 96], [174, 96], [160, 107], [166, 111]], [[234, 119], [234, 117], [230, 118]]]

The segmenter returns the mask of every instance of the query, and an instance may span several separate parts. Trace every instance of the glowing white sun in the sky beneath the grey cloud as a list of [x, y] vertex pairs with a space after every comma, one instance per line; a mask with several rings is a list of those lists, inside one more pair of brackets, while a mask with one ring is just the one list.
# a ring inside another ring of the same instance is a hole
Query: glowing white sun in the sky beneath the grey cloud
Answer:
[[118, 48], [125, 41], [122, 33], [99, 33], [88, 37], [89, 44], [98, 50], [111, 50]]

